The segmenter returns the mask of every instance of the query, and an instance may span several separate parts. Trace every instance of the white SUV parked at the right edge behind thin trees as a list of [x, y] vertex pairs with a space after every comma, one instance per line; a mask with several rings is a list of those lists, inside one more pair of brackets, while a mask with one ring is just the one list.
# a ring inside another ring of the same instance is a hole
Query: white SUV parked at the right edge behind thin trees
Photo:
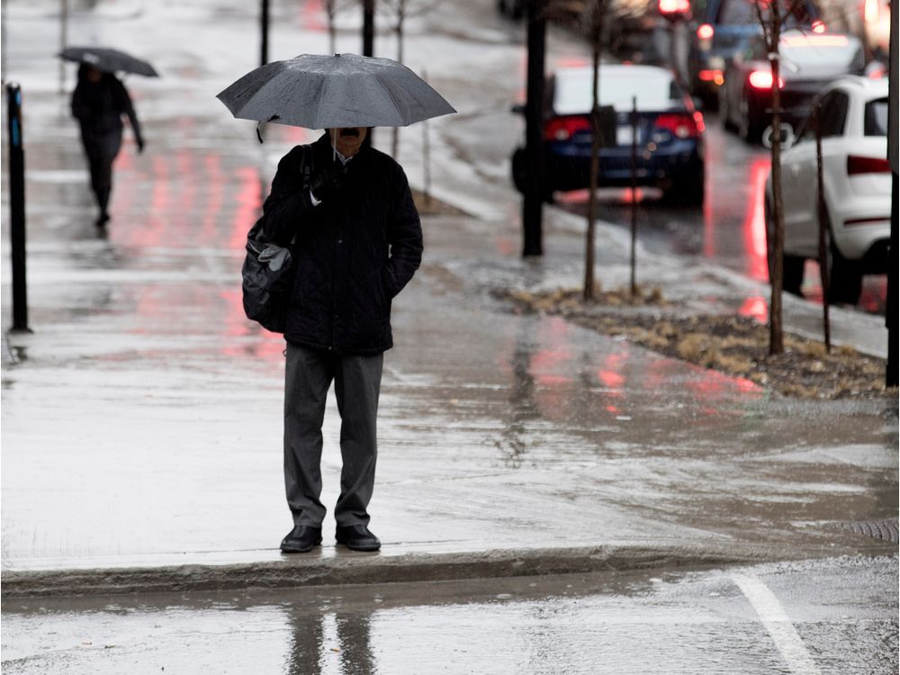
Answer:
[[[831, 231], [832, 302], [855, 304], [862, 275], [887, 273], [891, 173], [887, 162], [887, 79], [843, 76], [816, 97], [822, 103], [826, 223]], [[766, 183], [770, 239], [772, 177]], [[785, 211], [784, 289], [800, 294], [807, 258], [819, 255], [815, 130], [809, 120], [781, 156]], [[771, 263], [771, 255], [770, 255]]]

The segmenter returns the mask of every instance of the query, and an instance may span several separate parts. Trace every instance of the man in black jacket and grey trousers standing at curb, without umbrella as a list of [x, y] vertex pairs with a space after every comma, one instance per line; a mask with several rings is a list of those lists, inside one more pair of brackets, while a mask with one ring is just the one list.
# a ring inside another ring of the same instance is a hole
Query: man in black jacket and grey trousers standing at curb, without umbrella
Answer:
[[365, 146], [365, 127], [326, 131], [282, 158], [263, 204], [266, 236], [292, 247], [296, 265], [284, 329], [284, 484], [294, 523], [284, 553], [322, 541], [322, 421], [332, 381], [343, 461], [335, 538], [356, 551], [381, 546], [367, 506], [383, 353], [393, 346], [392, 298], [422, 258], [419, 212], [401, 166]]

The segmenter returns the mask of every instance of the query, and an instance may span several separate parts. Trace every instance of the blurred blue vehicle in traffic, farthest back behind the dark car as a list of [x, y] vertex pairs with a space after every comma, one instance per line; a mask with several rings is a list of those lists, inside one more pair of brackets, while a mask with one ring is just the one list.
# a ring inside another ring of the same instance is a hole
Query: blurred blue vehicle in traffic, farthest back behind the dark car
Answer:
[[[824, 30], [824, 23], [811, 0], [791, 4], [785, 28]], [[734, 55], [761, 32], [751, 0], [694, 0], [688, 49], [691, 92], [704, 103], [715, 104], [718, 88], [725, 82], [725, 67]]]

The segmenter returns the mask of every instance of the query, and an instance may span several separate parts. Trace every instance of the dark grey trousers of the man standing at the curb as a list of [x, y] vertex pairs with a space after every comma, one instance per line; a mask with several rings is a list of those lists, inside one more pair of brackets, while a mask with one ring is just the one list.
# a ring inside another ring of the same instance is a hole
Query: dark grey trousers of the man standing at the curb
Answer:
[[284, 383], [284, 488], [294, 525], [321, 527], [322, 421], [331, 381], [340, 412], [343, 468], [335, 520], [368, 525], [375, 482], [375, 417], [384, 355], [340, 356], [288, 343]]

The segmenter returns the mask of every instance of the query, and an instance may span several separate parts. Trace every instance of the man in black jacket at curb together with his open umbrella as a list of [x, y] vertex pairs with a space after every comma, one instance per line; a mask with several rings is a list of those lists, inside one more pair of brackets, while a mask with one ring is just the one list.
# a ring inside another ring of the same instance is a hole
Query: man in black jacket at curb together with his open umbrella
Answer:
[[388, 58], [302, 55], [247, 73], [219, 94], [239, 118], [326, 132], [278, 164], [263, 205], [267, 238], [290, 247], [296, 270], [286, 307], [284, 483], [294, 527], [285, 553], [322, 541], [322, 421], [335, 383], [343, 468], [338, 544], [377, 551], [368, 504], [383, 353], [391, 303], [422, 258], [422, 229], [403, 169], [365, 145], [374, 126], [455, 112], [409, 68]]

